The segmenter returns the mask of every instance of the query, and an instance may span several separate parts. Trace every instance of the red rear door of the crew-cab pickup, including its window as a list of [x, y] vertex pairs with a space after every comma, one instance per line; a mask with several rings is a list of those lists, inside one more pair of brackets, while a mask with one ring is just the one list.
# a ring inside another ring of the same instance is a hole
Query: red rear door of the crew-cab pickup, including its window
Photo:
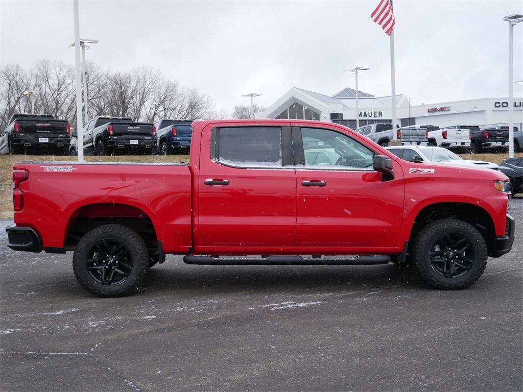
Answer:
[[[296, 177], [290, 127], [203, 129], [197, 168], [195, 249], [260, 254], [294, 245]], [[242, 254], [242, 253], [240, 253]]]

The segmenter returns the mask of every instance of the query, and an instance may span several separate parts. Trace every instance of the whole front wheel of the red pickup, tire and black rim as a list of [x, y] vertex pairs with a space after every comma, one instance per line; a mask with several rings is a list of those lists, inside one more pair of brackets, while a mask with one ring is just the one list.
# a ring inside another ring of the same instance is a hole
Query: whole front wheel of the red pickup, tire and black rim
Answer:
[[480, 232], [467, 222], [440, 219], [420, 230], [412, 248], [412, 260], [431, 286], [461, 290], [483, 274], [487, 247]]

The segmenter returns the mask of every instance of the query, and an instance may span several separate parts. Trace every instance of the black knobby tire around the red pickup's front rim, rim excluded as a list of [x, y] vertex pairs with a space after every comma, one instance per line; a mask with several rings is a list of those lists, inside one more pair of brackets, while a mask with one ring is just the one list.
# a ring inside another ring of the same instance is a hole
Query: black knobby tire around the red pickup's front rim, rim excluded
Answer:
[[[470, 270], [459, 278], [445, 278], [439, 275], [429, 260], [429, 253], [437, 239], [445, 234], [466, 237], [474, 247], [474, 262]], [[423, 280], [440, 290], [462, 290], [474, 284], [485, 271], [487, 246], [480, 232], [467, 222], [453, 218], [430, 222], [423, 227], [412, 247], [412, 263]]]

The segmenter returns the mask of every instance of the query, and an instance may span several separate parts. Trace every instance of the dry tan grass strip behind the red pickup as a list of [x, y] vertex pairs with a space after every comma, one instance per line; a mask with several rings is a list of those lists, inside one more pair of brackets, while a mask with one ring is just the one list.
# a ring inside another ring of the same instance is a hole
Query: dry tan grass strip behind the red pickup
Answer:
[[[523, 157], [522, 153], [516, 156]], [[508, 154], [468, 154], [461, 155], [463, 159], [486, 160], [501, 164], [502, 160], [508, 158]], [[52, 160], [75, 160], [76, 157], [52, 156], [52, 155], [1, 155], [0, 156], [0, 219], [13, 218], [13, 197], [11, 193], [12, 170], [13, 164], [27, 160], [52, 161]], [[85, 157], [88, 162], [144, 162], [144, 163], [161, 163], [161, 162], [189, 162], [188, 155], [149, 155], [149, 156], [88, 156]]]

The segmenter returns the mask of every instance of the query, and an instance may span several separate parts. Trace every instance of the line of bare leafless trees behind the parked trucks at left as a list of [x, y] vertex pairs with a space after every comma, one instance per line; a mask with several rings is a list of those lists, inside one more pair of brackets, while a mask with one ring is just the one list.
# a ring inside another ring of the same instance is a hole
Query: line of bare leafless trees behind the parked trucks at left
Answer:
[[[86, 73], [89, 118], [110, 115], [153, 122], [162, 118], [199, 120], [226, 117], [223, 112], [213, 110], [213, 102], [206, 94], [180, 87], [152, 68], [111, 73], [88, 63]], [[35, 111], [76, 123], [73, 67], [42, 60], [28, 72], [19, 65], [0, 68], [0, 126], [5, 126], [15, 111], [30, 110], [29, 100], [22, 95], [30, 88], [40, 90]]]

